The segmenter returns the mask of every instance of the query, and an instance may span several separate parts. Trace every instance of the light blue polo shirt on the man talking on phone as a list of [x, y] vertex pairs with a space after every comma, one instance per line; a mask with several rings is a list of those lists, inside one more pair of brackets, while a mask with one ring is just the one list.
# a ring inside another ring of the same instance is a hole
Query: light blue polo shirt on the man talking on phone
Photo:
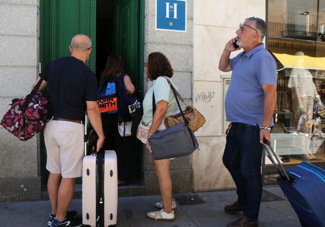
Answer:
[[[262, 84], [276, 85], [276, 63], [260, 44], [229, 60], [231, 81], [225, 96], [226, 121], [262, 125], [264, 91]], [[273, 120], [271, 126], [273, 125]]]

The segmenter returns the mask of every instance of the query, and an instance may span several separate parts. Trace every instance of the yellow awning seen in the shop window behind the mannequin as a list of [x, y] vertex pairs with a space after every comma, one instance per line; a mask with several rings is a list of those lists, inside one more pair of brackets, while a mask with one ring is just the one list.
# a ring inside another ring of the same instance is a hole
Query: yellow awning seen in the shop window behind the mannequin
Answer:
[[306, 68], [325, 70], [325, 57], [296, 56], [285, 53], [273, 53], [284, 68]]

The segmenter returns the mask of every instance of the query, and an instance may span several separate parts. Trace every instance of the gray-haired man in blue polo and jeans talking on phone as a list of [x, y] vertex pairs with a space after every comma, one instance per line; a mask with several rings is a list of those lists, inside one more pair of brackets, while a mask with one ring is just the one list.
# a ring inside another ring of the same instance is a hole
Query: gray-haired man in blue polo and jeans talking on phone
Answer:
[[[237, 187], [238, 199], [224, 207], [227, 213], [243, 211], [243, 216], [227, 227], [257, 227], [262, 194], [260, 174], [263, 138], [270, 141], [270, 127], [276, 102], [276, 64], [264, 49], [266, 22], [249, 17], [239, 25], [237, 36], [229, 40], [219, 61], [219, 70], [232, 70], [225, 97], [226, 120], [231, 122], [223, 154], [223, 164]], [[239, 46], [235, 48], [233, 42]], [[230, 52], [243, 49], [234, 58]]]

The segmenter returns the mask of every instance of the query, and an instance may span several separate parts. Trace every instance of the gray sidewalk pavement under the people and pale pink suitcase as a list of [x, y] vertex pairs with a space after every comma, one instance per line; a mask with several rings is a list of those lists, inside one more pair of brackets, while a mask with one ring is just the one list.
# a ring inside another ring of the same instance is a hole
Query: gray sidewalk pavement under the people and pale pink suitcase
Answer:
[[[240, 217], [223, 212], [236, 200], [235, 191], [173, 195], [177, 209], [175, 222], [155, 222], [146, 213], [156, 211], [160, 196], [118, 198], [116, 227], [225, 227]], [[299, 227], [299, 221], [279, 187], [265, 187], [259, 211], [260, 227]], [[69, 210], [81, 217], [81, 200], [73, 200]], [[48, 201], [0, 203], [0, 227], [47, 227]]]

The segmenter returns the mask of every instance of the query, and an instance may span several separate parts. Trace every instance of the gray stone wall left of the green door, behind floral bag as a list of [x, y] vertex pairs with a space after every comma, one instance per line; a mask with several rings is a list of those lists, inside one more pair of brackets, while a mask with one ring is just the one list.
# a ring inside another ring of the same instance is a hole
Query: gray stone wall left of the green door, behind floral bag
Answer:
[[[39, 0], [0, 0], [0, 116], [30, 92], [38, 72]], [[40, 200], [37, 137], [0, 127], [0, 201]]]

